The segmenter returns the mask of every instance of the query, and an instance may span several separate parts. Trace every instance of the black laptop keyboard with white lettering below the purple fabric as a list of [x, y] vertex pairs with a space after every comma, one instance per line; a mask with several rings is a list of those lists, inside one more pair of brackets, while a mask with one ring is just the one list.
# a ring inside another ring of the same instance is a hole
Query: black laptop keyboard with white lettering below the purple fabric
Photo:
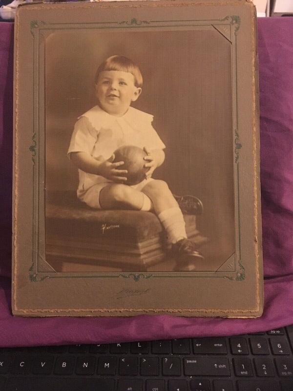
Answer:
[[293, 326], [264, 333], [0, 348], [0, 391], [293, 391]]

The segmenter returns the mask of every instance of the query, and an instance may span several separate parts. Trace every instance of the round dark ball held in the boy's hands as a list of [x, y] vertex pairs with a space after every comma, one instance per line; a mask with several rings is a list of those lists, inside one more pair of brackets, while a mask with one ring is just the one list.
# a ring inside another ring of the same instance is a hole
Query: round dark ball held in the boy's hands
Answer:
[[147, 153], [134, 145], [125, 145], [118, 148], [114, 152], [115, 158], [113, 163], [124, 161], [122, 166], [117, 167], [118, 170], [127, 170], [126, 185], [136, 185], [146, 178], [146, 173], [149, 167], [144, 167], [147, 163], [144, 157]]

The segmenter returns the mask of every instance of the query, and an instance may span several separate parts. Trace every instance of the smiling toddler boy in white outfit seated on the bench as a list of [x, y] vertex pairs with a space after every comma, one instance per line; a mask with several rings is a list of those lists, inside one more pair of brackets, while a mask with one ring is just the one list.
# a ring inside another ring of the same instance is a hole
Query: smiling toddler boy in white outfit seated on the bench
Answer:
[[[153, 179], [165, 159], [165, 145], [152, 127], [153, 116], [131, 107], [142, 92], [139, 67], [124, 56], [111, 56], [96, 72], [97, 106], [75, 124], [68, 155], [79, 169], [77, 195], [96, 209], [153, 211], [172, 243], [176, 271], [196, 269], [203, 259], [195, 243], [187, 239], [185, 221], [165, 181]], [[123, 145], [143, 148], [147, 155], [146, 178], [125, 184], [123, 161], [113, 163], [114, 151]]]

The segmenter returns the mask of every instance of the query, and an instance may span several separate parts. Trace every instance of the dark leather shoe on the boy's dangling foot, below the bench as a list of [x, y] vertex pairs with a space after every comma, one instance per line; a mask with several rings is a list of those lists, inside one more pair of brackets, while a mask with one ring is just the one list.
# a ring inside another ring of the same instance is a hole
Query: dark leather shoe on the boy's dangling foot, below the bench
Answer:
[[178, 240], [172, 244], [172, 256], [176, 259], [173, 271], [193, 271], [197, 269], [198, 261], [204, 256], [197, 250], [196, 244], [188, 239]]

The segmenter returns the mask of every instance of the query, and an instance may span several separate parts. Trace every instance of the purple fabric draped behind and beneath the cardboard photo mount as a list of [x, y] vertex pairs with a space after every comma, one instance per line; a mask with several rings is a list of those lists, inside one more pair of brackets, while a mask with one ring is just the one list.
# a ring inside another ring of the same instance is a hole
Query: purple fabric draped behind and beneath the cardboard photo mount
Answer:
[[265, 309], [258, 319], [21, 318], [10, 308], [13, 24], [0, 23], [0, 346], [231, 335], [293, 324], [293, 18], [258, 20]]

